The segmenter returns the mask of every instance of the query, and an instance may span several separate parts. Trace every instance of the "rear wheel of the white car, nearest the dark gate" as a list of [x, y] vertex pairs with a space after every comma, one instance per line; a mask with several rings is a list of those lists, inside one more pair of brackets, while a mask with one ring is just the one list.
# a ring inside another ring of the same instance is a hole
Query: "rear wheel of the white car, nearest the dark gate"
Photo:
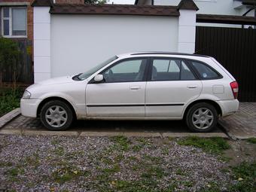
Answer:
[[197, 103], [187, 111], [186, 123], [192, 132], [211, 132], [217, 122], [217, 110], [207, 102]]

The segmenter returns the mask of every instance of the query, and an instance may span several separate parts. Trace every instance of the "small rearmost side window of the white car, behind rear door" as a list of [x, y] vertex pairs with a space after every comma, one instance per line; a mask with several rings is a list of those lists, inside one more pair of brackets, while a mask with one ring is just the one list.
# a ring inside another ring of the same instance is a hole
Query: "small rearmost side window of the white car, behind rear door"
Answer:
[[192, 66], [197, 70], [201, 79], [215, 79], [220, 78], [217, 72], [211, 69], [209, 66], [206, 66], [202, 62], [192, 61]]

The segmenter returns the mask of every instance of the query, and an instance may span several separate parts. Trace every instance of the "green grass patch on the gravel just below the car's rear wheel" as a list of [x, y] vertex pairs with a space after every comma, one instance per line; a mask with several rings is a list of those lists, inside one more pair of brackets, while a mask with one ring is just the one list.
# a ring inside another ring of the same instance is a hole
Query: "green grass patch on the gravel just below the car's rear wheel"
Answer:
[[203, 151], [211, 154], [222, 154], [224, 150], [230, 148], [227, 141], [220, 137], [199, 138], [197, 136], [188, 137], [178, 141], [178, 145], [190, 145], [196, 148], [202, 148]]

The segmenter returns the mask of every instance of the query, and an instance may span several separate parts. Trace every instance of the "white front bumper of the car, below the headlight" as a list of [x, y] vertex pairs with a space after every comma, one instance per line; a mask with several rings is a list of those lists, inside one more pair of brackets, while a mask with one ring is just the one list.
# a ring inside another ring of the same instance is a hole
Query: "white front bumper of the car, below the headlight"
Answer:
[[40, 102], [41, 99], [20, 99], [21, 114], [26, 117], [36, 117]]

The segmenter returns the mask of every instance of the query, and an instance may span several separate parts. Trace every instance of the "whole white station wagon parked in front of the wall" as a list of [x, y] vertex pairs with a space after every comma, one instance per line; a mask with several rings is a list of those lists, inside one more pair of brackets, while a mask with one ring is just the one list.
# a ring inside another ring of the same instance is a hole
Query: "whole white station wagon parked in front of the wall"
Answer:
[[236, 80], [210, 56], [142, 52], [33, 84], [20, 106], [48, 130], [66, 130], [75, 119], [183, 119], [190, 130], [209, 132], [238, 110], [237, 94]]

